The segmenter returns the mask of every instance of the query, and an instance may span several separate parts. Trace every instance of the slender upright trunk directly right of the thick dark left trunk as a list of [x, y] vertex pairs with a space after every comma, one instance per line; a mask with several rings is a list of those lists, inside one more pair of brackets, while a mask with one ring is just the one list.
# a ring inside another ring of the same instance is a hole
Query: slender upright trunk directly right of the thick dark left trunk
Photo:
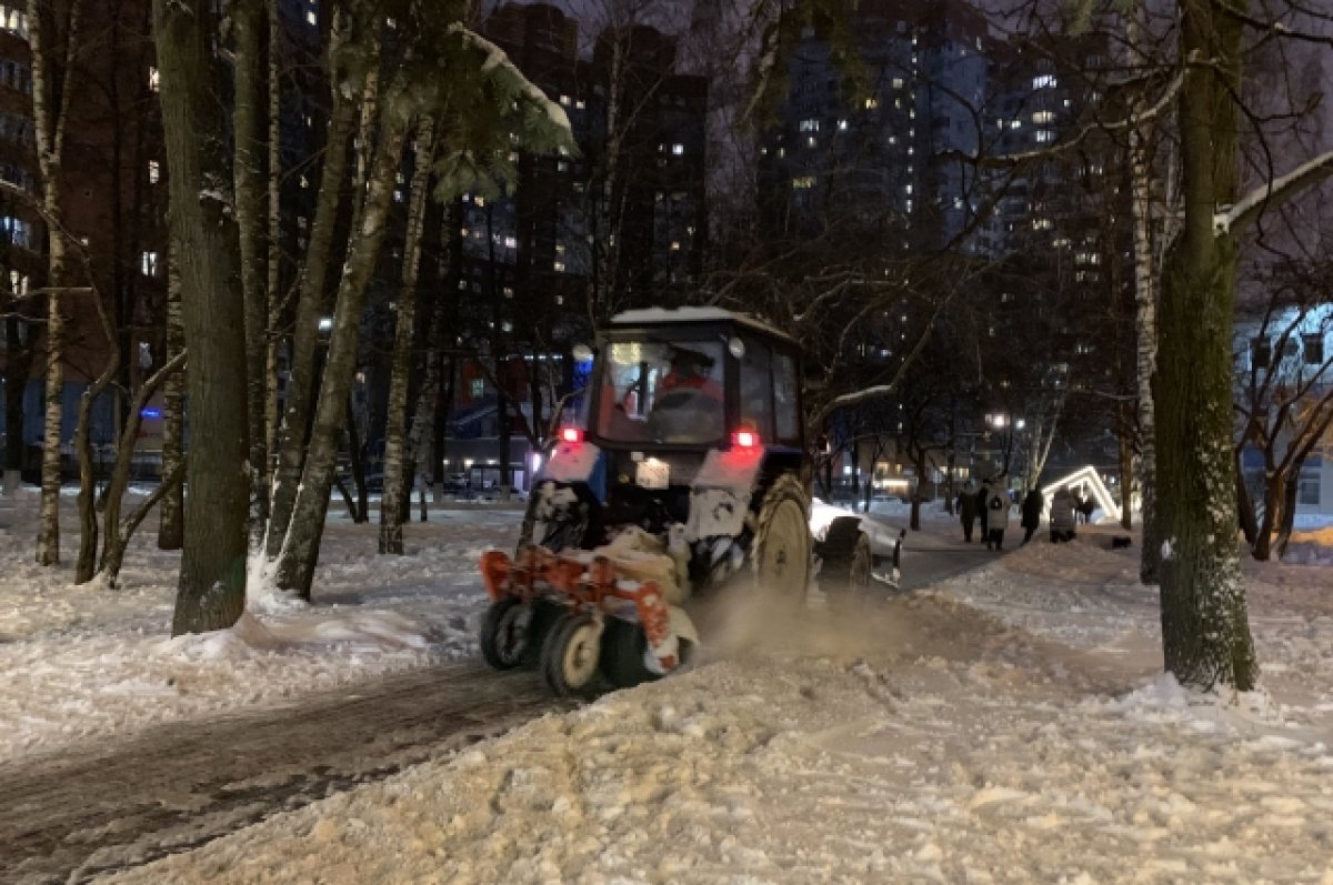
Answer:
[[[272, 4], [269, 4], [272, 5]], [[245, 316], [247, 431], [249, 436], [249, 544], [259, 550], [268, 522], [268, 240], [267, 181], [264, 179], [264, 96], [261, 65], [267, 29], [263, 0], [232, 0], [235, 41], [236, 227], [240, 235], [241, 299]]]

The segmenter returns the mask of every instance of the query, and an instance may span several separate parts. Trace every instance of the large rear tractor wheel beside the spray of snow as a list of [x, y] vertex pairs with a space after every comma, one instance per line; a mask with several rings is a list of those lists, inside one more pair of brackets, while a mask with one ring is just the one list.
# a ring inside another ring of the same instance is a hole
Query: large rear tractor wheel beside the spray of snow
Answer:
[[810, 577], [810, 504], [800, 480], [773, 480], [758, 509], [750, 562], [761, 593], [792, 604], [805, 601]]

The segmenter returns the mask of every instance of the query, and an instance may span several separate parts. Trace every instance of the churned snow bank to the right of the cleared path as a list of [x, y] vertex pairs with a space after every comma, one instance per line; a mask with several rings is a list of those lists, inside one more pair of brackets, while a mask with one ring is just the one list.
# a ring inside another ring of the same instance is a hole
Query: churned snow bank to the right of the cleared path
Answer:
[[1265, 692], [1232, 704], [1161, 676], [1136, 556], [805, 612], [117, 881], [1333, 882], [1326, 576], [1250, 569]]

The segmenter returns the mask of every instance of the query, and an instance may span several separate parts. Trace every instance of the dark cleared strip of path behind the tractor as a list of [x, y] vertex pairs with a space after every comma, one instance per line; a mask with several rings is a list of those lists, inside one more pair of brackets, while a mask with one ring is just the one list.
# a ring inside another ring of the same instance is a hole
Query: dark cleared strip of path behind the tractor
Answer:
[[447, 756], [556, 706], [532, 673], [452, 664], [299, 706], [168, 722], [0, 762], [0, 881], [85, 881]]

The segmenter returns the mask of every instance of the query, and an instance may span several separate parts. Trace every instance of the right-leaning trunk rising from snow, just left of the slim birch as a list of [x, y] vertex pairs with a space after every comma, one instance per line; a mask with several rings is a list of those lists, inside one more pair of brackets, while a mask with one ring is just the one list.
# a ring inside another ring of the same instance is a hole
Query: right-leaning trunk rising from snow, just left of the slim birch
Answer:
[[351, 237], [343, 281], [339, 285], [333, 329], [329, 335], [328, 364], [311, 433], [309, 453], [292, 509], [292, 521], [281, 544], [277, 561], [277, 586], [299, 598], [309, 600], [311, 580], [324, 533], [329, 488], [337, 460], [337, 440], [343, 431], [347, 399], [356, 369], [356, 347], [361, 331], [361, 304], [365, 287], [375, 271], [380, 244], [393, 199], [395, 172], [407, 139], [408, 121], [396, 107], [401, 97], [389, 96], [385, 127], [376, 147], [375, 163], [367, 183], [365, 208]]

